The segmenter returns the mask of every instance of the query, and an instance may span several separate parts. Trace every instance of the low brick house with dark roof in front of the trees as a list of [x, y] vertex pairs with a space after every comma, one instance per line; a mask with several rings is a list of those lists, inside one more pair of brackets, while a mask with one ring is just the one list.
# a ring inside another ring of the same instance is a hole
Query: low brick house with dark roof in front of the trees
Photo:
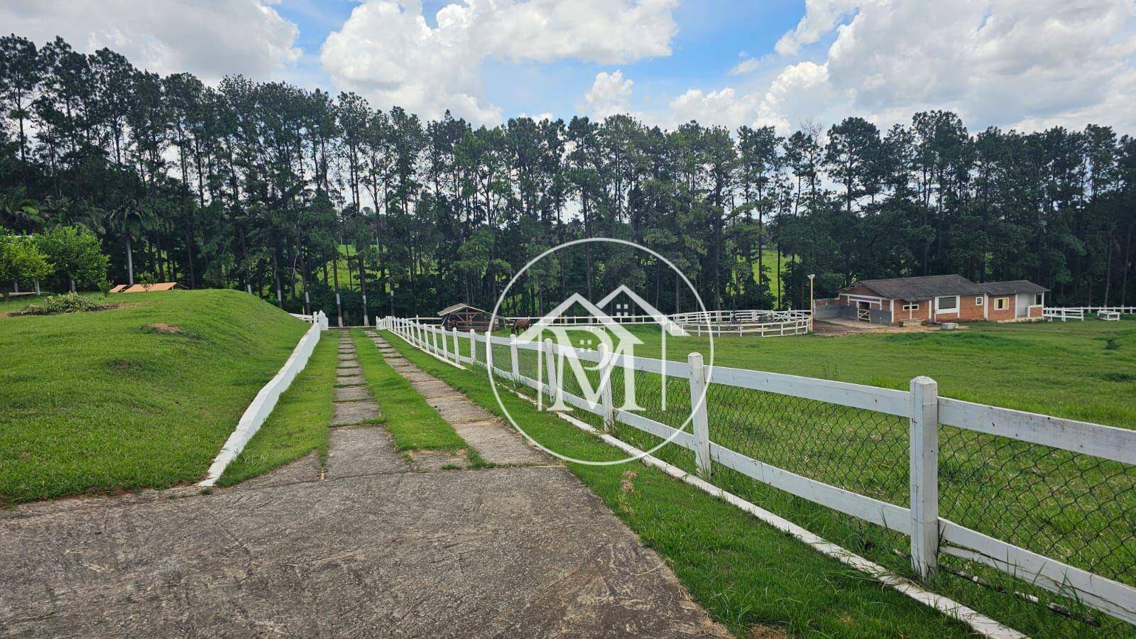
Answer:
[[863, 280], [817, 300], [817, 320], [872, 324], [1041, 320], [1049, 289], [1027, 280], [977, 283], [961, 275]]

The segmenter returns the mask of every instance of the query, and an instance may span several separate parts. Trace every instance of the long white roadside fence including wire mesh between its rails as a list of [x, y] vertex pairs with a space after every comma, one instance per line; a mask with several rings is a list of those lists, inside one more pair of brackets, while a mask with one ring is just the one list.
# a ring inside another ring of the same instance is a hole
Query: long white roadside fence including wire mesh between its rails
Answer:
[[[1136, 624], [1136, 431], [939, 397], [927, 377], [894, 390], [707, 366], [699, 354], [608, 358], [393, 317], [381, 327], [592, 413], [620, 439], [670, 439], [703, 479], [729, 468], [905, 536], [921, 576], [951, 555]], [[626, 389], [610, 374], [590, 399], [569, 381], [571, 358], [608, 360], [662, 407], [620, 408]]]

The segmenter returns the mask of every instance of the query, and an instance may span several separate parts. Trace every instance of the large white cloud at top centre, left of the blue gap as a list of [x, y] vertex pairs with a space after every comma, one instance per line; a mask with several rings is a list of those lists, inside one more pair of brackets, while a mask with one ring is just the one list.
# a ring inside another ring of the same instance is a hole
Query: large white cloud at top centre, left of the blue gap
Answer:
[[324, 42], [320, 61], [336, 86], [379, 108], [425, 117], [450, 109], [476, 123], [501, 122], [482, 97], [490, 57], [619, 64], [670, 53], [677, 0], [462, 0], [429, 26], [420, 1], [367, 0]]

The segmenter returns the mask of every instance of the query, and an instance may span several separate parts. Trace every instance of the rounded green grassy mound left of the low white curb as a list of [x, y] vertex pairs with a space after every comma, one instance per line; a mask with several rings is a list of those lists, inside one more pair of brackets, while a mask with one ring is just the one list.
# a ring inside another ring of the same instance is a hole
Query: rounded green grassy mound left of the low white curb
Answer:
[[199, 479], [307, 330], [239, 291], [106, 301], [0, 315], [0, 505]]

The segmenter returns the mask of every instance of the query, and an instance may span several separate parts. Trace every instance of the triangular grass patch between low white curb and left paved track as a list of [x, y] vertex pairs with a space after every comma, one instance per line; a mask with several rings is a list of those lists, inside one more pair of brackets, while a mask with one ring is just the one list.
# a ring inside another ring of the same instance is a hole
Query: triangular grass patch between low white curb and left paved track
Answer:
[[316, 451], [327, 460], [337, 340], [324, 333], [308, 365], [292, 381], [272, 415], [225, 468], [217, 486], [233, 486]]

